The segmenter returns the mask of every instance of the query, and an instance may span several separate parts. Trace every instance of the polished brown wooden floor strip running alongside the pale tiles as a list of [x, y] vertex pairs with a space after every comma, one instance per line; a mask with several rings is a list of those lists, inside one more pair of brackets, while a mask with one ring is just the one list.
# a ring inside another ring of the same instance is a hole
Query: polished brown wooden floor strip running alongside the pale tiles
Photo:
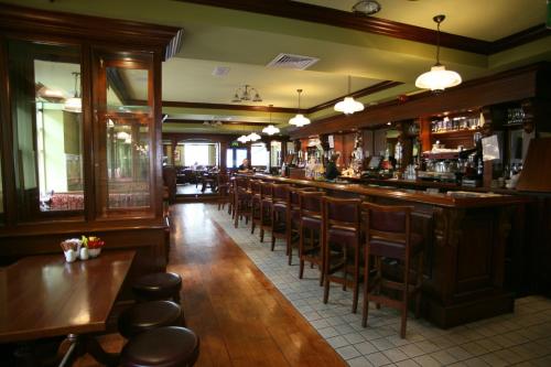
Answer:
[[[184, 279], [187, 324], [201, 337], [196, 366], [345, 366], [204, 208], [171, 208], [169, 271]], [[121, 341], [108, 336], [104, 345], [112, 350]]]

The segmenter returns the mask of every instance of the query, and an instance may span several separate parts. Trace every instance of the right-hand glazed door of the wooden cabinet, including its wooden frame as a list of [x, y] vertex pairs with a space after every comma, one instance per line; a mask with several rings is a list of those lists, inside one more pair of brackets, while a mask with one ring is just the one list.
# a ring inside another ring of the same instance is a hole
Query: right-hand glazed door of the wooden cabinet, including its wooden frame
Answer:
[[150, 212], [153, 96], [150, 55], [99, 55], [96, 86], [100, 216]]

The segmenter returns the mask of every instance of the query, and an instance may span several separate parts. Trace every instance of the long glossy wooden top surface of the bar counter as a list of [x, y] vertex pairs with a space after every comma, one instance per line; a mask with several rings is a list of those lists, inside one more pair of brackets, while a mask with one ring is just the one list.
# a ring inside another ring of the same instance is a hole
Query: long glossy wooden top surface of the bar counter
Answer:
[[323, 190], [342, 191], [365, 196], [379, 196], [407, 202], [415, 202], [443, 207], [469, 208], [522, 204], [528, 199], [517, 195], [504, 195], [495, 193], [476, 193], [466, 191], [455, 191], [443, 193], [430, 193], [420, 190], [381, 187], [360, 183], [295, 180], [269, 174], [241, 174], [255, 179], [270, 180], [278, 183], [288, 183], [300, 186], [313, 186]]

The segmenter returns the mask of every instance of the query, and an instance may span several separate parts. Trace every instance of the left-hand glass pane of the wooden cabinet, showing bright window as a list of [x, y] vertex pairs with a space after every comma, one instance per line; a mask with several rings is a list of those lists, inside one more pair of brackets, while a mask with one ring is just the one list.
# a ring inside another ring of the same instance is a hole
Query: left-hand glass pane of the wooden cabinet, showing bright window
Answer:
[[20, 219], [84, 209], [79, 48], [10, 41]]

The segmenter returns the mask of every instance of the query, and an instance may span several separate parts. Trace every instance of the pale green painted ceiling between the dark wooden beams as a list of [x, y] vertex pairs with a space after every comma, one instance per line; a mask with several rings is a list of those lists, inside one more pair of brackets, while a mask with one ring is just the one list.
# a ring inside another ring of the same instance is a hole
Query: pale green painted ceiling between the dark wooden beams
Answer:
[[[163, 126], [163, 131], [235, 133], [260, 130], [263, 125], [256, 129], [250, 123], [203, 125], [205, 120], [266, 123], [269, 119], [266, 111], [205, 105], [231, 105], [236, 88], [245, 84], [257, 88], [263, 99], [250, 105], [290, 108], [272, 114], [273, 121], [280, 127], [288, 127], [285, 121], [298, 107], [298, 88], [304, 89], [301, 107], [312, 108], [346, 95], [348, 75], [352, 76], [353, 91], [383, 80], [401, 83], [361, 97], [365, 104], [417, 93], [415, 77], [428, 71], [435, 57], [432, 44], [185, 1], [96, 0], [94, 6], [78, 0], [0, 1], [183, 28], [181, 52], [163, 64], [162, 99], [199, 105], [171, 104], [163, 107], [163, 112], [172, 121]], [[445, 13], [444, 32], [484, 41], [496, 41], [545, 20], [544, 0], [378, 1], [382, 10], [375, 17], [434, 30], [432, 17]], [[298, 2], [349, 11], [355, 0]], [[350, 13], [349, 17], [357, 15]], [[313, 56], [320, 61], [306, 71], [267, 67], [280, 53]], [[551, 36], [493, 55], [443, 48], [441, 58], [466, 80], [537, 61], [550, 61]], [[229, 67], [229, 73], [223, 77], [213, 76], [217, 66]], [[315, 120], [334, 114], [327, 108], [310, 117]], [[197, 123], [191, 123], [191, 120]]]

